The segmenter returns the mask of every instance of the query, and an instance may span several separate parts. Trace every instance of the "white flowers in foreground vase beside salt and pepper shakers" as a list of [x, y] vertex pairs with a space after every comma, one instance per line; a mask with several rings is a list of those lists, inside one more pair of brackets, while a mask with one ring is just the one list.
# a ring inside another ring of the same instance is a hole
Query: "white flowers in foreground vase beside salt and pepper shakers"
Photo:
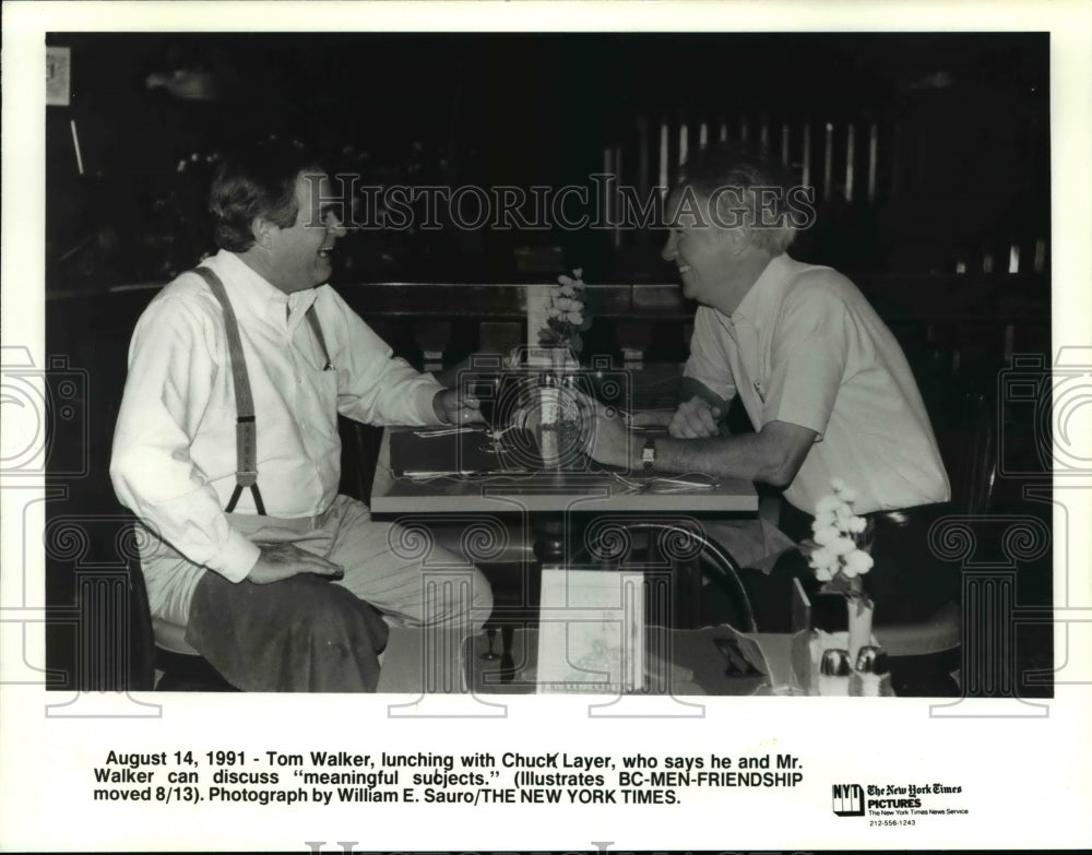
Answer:
[[870, 605], [860, 577], [873, 569], [869, 554], [873, 523], [853, 512], [857, 494], [841, 478], [831, 482], [833, 492], [816, 503], [811, 539], [800, 544], [824, 593], [842, 594], [858, 607]]

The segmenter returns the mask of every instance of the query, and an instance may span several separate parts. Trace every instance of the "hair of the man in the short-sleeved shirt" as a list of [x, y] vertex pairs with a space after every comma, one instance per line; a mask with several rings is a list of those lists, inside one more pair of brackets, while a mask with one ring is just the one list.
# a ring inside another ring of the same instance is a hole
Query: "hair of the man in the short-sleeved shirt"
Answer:
[[[787, 204], [792, 178], [788, 170], [774, 161], [764, 149], [745, 142], [720, 142], [695, 152], [688, 158], [678, 178], [678, 187], [689, 187], [707, 199], [716, 194], [727, 198], [727, 204], [743, 207], [750, 213], [745, 224], [752, 246], [779, 256], [788, 249], [796, 237], [796, 227]], [[775, 193], [759, 194], [755, 188], [770, 188]], [[770, 206], [759, 216], [759, 204]], [[758, 225], [778, 223], [776, 226]]]

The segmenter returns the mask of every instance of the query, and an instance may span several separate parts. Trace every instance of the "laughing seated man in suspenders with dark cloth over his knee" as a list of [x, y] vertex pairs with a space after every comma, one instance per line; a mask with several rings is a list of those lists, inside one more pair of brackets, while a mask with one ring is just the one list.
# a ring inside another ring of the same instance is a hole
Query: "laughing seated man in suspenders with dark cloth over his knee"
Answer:
[[[141, 520], [153, 617], [238, 688], [369, 691], [387, 621], [480, 628], [488, 582], [426, 596], [420, 559], [337, 495], [337, 414], [371, 424], [479, 421], [392, 357], [327, 283], [345, 234], [322, 168], [287, 145], [225, 161], [210, 211], [221, 248], [136, 324], [110, 475]], [[404, 551], [404, 550], [403, 550]], [[385, 621], [380, 617], [385, 616]]]

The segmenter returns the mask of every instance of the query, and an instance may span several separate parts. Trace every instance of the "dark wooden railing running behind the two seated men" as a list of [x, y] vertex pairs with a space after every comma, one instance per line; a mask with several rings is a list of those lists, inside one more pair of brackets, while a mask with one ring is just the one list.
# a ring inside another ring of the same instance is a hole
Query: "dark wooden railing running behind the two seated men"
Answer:
[[[1048, 353], [1047, 276], [1021, 274], [870, 274], [857, 286], [906, 348], [945, 348], [959, 361], [1008, 361], [1014, 353]], [[136, 317], [158, 286], [57, 295], [47, 300], [50, 353], [102, 363], [124, 352]], [[527, 284], [369, 283], [339, 292], [412, 363], [448, 367], [480, 351], [526, 342]], [[594, 321], [586, 353], [617, 361], [682, 361], [696, 304], [674, 284], [587, 288]]]

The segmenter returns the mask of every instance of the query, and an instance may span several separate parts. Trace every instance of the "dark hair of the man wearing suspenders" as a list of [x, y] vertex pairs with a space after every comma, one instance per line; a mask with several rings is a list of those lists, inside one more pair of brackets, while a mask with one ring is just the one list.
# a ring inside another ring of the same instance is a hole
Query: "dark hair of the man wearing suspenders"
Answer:
[[225, 157], [212, 180], [209, 213], [216, 246], [245, 252], [254, 245], [256, 217], [288, 228], [296, 222], [296, 178], [324, 171], [297, 142], [269, 140]]

